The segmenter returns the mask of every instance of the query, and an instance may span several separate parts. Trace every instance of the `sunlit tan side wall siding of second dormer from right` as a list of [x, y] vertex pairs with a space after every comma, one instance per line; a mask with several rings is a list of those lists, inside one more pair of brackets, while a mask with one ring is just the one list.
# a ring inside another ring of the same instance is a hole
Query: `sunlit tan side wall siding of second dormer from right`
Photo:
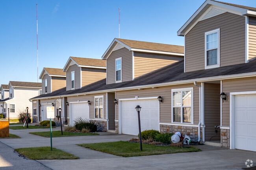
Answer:
[[134, 52], [134, 79], [183, 60], [183, 57]]

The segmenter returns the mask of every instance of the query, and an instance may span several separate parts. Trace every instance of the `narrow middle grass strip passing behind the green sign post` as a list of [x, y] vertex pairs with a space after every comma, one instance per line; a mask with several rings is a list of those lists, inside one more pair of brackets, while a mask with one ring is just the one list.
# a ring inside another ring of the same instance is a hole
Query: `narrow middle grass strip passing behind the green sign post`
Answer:
[[[43, 137], [50, 137], [50, 132], [30, 132], [33, 135], [39, 135]], [[61, 135], [61, 131], [52, 131], [52, 137], [67, 137], [67, 136], [87, 136], [87, 135], [99, 135], [98, 133], [72, 133], [63, 131], [63, 135]]]

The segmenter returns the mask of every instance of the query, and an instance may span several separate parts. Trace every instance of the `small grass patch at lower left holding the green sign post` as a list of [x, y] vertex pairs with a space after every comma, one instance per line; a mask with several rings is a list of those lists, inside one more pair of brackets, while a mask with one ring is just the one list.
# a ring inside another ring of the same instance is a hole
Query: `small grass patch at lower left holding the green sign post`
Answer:
[[29, 159], [33, 160], [50, 160], [50, 159], [79, 159], [79, 157], [64, 152], [62, 150], [46, 147], [37, 147], [37, 148], [19, 148], [15, 149], [20, 154], [28, 157]]

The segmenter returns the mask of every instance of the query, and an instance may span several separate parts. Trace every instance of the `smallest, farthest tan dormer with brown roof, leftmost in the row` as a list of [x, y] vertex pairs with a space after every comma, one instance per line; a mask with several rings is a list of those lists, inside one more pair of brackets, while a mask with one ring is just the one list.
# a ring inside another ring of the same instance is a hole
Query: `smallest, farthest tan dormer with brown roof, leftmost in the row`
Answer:
[[66, 73], [60, 68], [43, 68], [39, 79], [42, 80], [42, 94], [66, 87]]

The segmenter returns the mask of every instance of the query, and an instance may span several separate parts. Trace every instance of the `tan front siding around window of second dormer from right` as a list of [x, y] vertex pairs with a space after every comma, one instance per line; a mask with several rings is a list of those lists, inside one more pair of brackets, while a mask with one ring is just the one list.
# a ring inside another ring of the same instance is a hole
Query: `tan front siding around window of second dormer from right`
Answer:
[[121, 48], [107, 59], [107, 84], [115, 83], [115, 59], [122, 57], [122, 82], [132, 80], [132, 51]]

